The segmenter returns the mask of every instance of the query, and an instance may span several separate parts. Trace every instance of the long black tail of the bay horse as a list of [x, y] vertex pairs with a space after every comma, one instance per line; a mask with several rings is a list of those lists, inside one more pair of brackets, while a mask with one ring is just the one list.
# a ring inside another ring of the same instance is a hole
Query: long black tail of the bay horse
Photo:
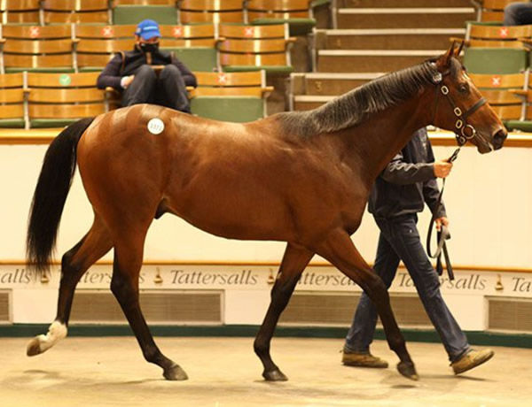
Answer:
[[26, 262], [37, 273], [50, 265], [59, 221], [75, 173], [76, 148], [94, 118], [81, 119], [66, 127], [46, 151], [43, 168], [29, 210], [26, 236]]

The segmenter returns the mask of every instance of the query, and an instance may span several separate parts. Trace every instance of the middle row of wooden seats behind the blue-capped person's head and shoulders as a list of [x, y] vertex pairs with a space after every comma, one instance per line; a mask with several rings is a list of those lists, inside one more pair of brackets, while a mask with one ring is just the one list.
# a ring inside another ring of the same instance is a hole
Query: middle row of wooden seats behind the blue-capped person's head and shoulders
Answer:
[[[0, 26], [0, 73], [101, 70], [115, 52], [132, 50], [135, 25]], [[293, 70], [286, 24], [161, 25], [160, 47], [193, 71]]]

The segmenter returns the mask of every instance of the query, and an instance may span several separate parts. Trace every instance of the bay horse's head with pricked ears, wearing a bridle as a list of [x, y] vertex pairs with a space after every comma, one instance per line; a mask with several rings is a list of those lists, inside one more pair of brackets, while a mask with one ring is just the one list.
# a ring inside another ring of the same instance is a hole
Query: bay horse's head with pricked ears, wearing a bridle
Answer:
[[[463, 45], [463, 44], [462, 44]], [[459, 145], [473, 142], [481, 154], [503, 147], [507, 132], [497, 113], [481, 96], [458, 60], [455, 44], [434, 60], [438, 73], [433, 81], [436, 95], [433, 124], [457, 134]]]

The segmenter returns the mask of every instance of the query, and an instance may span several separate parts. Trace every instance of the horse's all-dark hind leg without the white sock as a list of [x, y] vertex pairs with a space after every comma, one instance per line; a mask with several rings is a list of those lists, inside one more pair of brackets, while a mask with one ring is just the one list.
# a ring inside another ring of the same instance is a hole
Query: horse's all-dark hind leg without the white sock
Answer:
[[153, 341], [138, 301], [138, 275], [142, 266], [145, 234], [140, 238], [130, 232], [114, 246], [113, 280], [111, 291], [121, 305], [129, 326], [137, 337], [145, 359], [163, 369], [167, 380], [186, 380], [186, 373], [179, 365], [165, 357]]

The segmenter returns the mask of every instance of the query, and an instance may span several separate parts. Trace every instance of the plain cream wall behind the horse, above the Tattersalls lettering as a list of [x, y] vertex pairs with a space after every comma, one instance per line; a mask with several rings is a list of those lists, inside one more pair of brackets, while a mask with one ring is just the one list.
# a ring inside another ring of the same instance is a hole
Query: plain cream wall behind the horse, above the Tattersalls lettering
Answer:
[[[46, 146], [0, 146], [3, 191], [0, 259], [22, 260], [27, 211]], [[434, 147], [436, 157], [449, 157], [452, 147]], [[532, 148], [505, 148], [481, 156], [473, 148], [460, 152], [448, 179], [445, 203], [450, 218], [452, 260], [457, 265], [531, 268]], [[125, 203], [127, 204], [127, 203]], [[419, 221], [426, 234], [429, 212]], [[76, 173], [59, 229], [56, 259], [87, 232], [90, 204]], [[369, 213], [353, 240], [372, 262], [378, 231]], [[145, 246], [146, 260], [278, 262], [280, 242], [239, 242], [205, 234], [172, 215], [155, 220]], [[107, 255], [112, 259], [111, 255]]]

